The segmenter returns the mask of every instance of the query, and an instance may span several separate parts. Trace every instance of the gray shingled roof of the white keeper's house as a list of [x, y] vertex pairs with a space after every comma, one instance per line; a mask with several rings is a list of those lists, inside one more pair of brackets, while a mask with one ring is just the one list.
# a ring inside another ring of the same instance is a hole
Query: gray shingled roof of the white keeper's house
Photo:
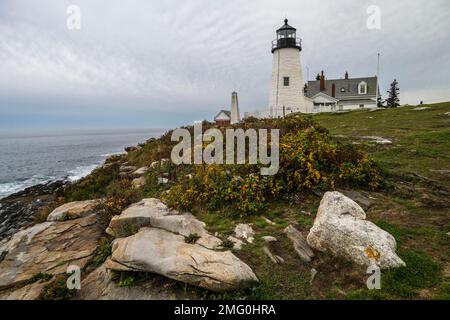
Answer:
[[[358, 93], [358, 85], [360, 82], [365, 81], [367, 83], [367, 94], [360, 95]], [[346, 99], [349, 97], [367, 97], [375, 96], [377, 88], [377, 77], [367, 78], [354, 78], [354, 79], [330, 79], [325, 80], [325, 91], [323, 93], [331, 97], [331, 88], [333, 83], [336, 85], [336, 99]], [[341, 92], [341, 89], [345, 88], [345, 92]], [[320, 81], [308, 81], [308, 90], [306, 96], [311, 98], [318, 94], [320, 91]]]

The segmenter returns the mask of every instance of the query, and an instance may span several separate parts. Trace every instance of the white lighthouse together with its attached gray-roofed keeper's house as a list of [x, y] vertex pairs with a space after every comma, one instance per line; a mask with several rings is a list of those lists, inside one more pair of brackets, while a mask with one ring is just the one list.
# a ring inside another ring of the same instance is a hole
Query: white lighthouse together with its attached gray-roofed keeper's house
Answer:
[[302, 41], [284, 20], [272, 41], [272, 80], [269, 108], [246, 112], [246, 117], [284, 117], [291, 113], [319, 113], [376, 108], [378, 78], [326, 79], [305, 83], [301, 66]]

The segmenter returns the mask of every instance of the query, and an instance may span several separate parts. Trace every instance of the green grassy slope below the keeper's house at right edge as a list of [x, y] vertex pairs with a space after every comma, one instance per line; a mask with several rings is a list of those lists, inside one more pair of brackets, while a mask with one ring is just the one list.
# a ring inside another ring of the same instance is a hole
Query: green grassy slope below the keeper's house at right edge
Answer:
[[435, 170], [450, 170], [450, 103], [425, 105], [428, 110], [415, 107], [385, 109], [377, 112], [319, 114], [313, 119], [333, 135], [358, 141], [362, 136], [381, 136], [393, 144], [379, 146], [365, 144], [371, 156], [386, 170], [395, 174], [417, 173], [437, 180], [447, 187], [450, 179]]

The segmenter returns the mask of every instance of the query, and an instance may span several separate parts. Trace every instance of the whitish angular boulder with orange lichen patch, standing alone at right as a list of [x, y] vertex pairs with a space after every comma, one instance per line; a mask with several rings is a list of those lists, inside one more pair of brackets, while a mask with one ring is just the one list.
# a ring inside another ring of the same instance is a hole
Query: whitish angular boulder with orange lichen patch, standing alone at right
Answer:
[[395, 253], [394, 237], [367, 221], [364, 210], [339, 192], [327, 192], [322, 198], [307, 242], [319, 251], [330, 251], [360, 265], [405, 265]]

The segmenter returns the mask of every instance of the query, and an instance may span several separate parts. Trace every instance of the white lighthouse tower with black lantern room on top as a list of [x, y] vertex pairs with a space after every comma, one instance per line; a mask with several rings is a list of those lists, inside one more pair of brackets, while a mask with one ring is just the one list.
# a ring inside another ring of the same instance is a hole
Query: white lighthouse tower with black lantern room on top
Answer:
[[296, 29], [284, 25], [277, 30], [277, 38], [272, 42], [273, 67], [269, 111], [271, 117], [284, 117], [292, 112], [307, 113], [308, 105], [304, 96], [300, 52], [301, 39]]

